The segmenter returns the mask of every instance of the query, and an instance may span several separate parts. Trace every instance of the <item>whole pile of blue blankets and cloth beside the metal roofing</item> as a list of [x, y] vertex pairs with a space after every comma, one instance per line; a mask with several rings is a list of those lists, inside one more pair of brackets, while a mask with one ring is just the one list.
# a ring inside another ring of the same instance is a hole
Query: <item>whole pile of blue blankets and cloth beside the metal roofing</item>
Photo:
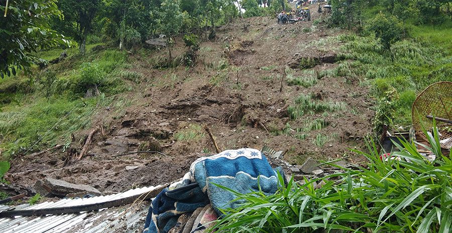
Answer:
[[[259, 191], [274, 194], [280, 167], [273, 169], [265, 155], [256, 149], [226, 150], [201, 157], [176, 183], [152, 201], [143, 233], [200, 233], [223, 215], [222, 209], [241, 203], [224, 187], [242, 194]], [[284, 179], [285, 180], [285, 179]]]

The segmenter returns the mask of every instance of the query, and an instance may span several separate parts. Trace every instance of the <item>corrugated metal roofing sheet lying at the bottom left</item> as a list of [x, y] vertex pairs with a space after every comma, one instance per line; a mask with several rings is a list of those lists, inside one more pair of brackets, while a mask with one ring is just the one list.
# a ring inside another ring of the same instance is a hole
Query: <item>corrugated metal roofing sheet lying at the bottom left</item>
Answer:
[[[23, 207], [21, 209], [41, 209], [52, 207], [67, 207], [84, 204], [93, 204], [109, 200], [117, 200], [134, 195], [147, 193], [162, 186], [151, 186], [131, 189], [126, 192], [96, 196], [90, 198], [62, 199], [57, 202], [43, 202], [40, 204]], [[0, 218], [0, 232], [2, 233], [95, 233], [95, 232], [141, 232], [144, 219], [147, 214], [146, 204], [139, 201], [125, 206], [99, 209], [91, 212], [70, 214], [48, 214], [46, 216], [17, 216], [13, 218]], [[0, 211], [5, 211], [8, 206], [0, 206]], [[20, 207], [19, 207], [20, 208]], [[18, 209], [18, 207], [16, 208]]]

